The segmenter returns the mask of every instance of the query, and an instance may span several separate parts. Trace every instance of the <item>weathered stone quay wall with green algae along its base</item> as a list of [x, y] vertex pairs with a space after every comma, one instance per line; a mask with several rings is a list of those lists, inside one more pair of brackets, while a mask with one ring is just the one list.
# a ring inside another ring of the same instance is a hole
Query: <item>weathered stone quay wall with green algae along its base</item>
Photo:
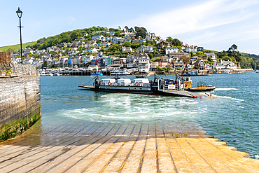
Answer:
[[0, 78], [0, 141], [15, 137], [41, 118], [40, 77]]

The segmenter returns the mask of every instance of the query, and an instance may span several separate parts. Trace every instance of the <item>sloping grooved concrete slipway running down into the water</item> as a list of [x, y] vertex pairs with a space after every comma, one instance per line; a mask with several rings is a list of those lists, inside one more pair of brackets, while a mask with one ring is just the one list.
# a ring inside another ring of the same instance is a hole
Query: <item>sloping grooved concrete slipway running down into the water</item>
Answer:
[[259, 172], [259, 160], [163, 124], [40, 126], [0, 144], [0, 172]]

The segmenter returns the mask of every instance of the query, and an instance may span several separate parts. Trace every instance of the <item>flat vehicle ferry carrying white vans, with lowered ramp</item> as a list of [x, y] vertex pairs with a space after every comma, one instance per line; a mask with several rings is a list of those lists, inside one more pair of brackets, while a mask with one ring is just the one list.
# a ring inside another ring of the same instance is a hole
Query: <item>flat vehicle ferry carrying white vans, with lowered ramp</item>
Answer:
[[154, 81], [148, 78], [103, 78], [99, 79], [99, 76], [94, 77], [93, 85], [80, 85], [78, 87], [102, 91], [102, 92], [119, 92], [119, 93], [131, 93], [140, 95], [171, 95], [179, 97], [208, 97], [207, 95], [198, 94], [185, 90], [185, 83], [181, 79], [181, 76], [176, 74], [176, 79], [161, 78], [157, 74], [154, 75]]

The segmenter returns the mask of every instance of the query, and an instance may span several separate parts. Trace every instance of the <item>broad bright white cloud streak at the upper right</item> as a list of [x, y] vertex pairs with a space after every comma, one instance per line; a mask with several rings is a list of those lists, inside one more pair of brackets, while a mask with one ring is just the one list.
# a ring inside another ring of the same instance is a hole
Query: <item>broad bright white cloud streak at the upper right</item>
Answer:
[[127, 21], [125, 24], [146, 27], [166, 38], [245, 20], [251, 16], [246, 7], [253, 4], [258, 4], [258, 1], [212, 0], [179, 10], [142, 15], [141, 18]]

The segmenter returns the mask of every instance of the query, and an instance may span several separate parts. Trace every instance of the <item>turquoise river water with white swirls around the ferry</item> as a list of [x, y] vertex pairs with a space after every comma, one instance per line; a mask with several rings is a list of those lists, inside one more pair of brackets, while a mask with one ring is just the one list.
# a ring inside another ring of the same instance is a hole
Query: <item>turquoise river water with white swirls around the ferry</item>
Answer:
[[[174, 75], [162, 77], [175, 78]], [[218, 96], [216, 99], [130, 95], [78, 88], [92, 78], [41, 77], [43, 132], [59, 125], [76, 128], [87, 123], [157, 123], [171, 127], [176, 133], [214, 135], [238, 151], [249, 153], [251, 158], [259, 157], [258, 74], [192, 77], [193, 85], [199, 81], [215, 85], [212, 95]], [[153, 80], [153, 76], [148, 78]]]

